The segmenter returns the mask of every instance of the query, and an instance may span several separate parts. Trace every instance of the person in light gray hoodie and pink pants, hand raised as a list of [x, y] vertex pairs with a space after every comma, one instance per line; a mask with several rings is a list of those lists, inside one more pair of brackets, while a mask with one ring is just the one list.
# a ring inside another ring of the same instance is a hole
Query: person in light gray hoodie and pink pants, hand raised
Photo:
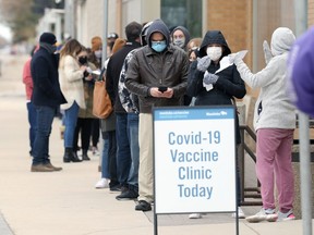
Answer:
[[[264, 41], [266, 67], [253, 74], [235, 59], [241, 78], [253, 89], [261, 88], [254, 110], [256, 131], [256, 175], [261, 182], [263, 208], [249, 222], [294, 220], [294, 178], [291, 164], [295, 111], [286, 94], [287, 59], [295, 37], [287, 27], [277, 28], [270, 48]], [[234, 57], [230, 57], [233, 60]], [[276, 177], [275, 177], [276, 176]], [[278, 189], [279, 211], [275, 211], [274, 186]]]

